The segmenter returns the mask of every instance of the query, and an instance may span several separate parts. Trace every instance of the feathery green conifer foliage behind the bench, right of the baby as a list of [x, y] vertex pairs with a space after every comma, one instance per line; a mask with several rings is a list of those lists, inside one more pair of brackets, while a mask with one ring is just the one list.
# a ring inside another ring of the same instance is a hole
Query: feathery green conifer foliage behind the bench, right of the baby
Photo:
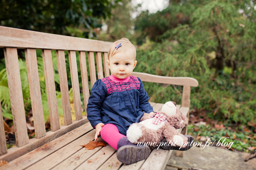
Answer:
[[[192, 107], [205, 109], [208, 117], [219, 121], [253, 124], [255, 5], [235, 0], [172, 1], [155, 14], [142, 12], [135, 22], [141, 46], [134, 71], [193, 77], [199, 86], [191, 88]], [[145, 83], [145, 88], [154, 102], [181, 101], [181, 87]]]

